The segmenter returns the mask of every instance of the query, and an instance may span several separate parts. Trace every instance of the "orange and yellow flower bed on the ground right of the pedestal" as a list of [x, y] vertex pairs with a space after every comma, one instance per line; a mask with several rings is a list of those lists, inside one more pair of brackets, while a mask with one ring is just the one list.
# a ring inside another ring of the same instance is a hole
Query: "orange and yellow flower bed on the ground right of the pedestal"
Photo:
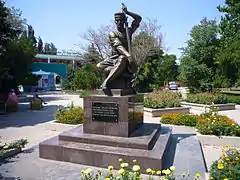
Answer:
[[216, 110], [202, 115], [169, 114], [160, 121], [165, 124], [194, 126], [204, 135], [240, 136], [240, 126], [232, 119], [218, 115]]

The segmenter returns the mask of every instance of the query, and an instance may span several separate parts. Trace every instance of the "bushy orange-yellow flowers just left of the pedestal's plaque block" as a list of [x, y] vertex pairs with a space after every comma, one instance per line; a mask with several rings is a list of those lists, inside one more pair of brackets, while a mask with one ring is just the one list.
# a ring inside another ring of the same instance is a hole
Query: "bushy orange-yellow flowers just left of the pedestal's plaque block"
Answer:
[[82, 124], [84, 111], [81, 107], [58, 108], [55, 112], [55, 119], [63, 124]]

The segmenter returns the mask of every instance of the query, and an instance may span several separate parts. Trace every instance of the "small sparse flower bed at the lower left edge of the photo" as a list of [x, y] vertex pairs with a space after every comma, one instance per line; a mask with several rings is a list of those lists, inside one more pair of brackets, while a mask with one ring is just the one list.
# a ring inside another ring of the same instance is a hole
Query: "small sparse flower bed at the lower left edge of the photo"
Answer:
[[21, 139], [10, 144], [5, 144], [4, 146], [0, 146], [0, 159], [5, 159], [20, 153], [27, 143], [26, 139]]

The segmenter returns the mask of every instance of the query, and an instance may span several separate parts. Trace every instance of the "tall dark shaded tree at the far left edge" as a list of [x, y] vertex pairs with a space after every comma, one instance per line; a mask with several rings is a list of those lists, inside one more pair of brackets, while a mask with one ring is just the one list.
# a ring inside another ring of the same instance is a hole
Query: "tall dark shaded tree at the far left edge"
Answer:
[[[34, 30], [26, 25], [21, 12], [16, 8], [7, 8], [0, 1], [1, 8], [1, 61], [2, 68], [8, 68], [15, 77], [16, 84], [24, 83], [31, 76], [32, 59], [36, 54]], [[1, 72], [0, 72], [1, 74]]]

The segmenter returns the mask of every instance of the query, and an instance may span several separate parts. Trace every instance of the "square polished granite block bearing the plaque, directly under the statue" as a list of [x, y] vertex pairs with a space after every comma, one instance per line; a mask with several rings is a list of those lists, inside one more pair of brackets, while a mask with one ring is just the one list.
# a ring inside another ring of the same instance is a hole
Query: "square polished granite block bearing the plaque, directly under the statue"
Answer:
[[142, 94], [86, 97], [83, 131], [90, 134], [129, 137], [143, 123], [143, 106]]

